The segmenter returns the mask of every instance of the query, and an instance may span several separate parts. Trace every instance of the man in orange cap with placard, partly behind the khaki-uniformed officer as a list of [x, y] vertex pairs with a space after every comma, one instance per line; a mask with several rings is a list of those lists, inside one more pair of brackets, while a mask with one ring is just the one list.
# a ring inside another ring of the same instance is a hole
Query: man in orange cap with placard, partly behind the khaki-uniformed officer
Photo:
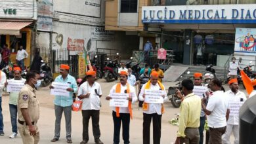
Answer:
[[[5, 86], [7, 86], [7, 92], [10, 92], [10, 98], [9, 98], [9, 109], [10, 109], [10, 115], [11, 115], [11, 123], [12, 123], [12, 134], [9, 136], [11, 139], [17, 136], [18, 134], [18, 128], [17, 128], [17, 99], [18, 99], [18, 93], [20, 92], [20, 89], [25, 85], [26, 79], [23, 79], [21, 77], [21, 69], [20, 67], [14, 67], [14, 79], [11, 79], [10, 81], [5, 82]], [[17, 85], [18, 84], [18, 85]], [[15, 89], [9, 91], [12, 88], [9, 87], [15, 87]], [[18, 90], [19, 89], [19, 90]]]

